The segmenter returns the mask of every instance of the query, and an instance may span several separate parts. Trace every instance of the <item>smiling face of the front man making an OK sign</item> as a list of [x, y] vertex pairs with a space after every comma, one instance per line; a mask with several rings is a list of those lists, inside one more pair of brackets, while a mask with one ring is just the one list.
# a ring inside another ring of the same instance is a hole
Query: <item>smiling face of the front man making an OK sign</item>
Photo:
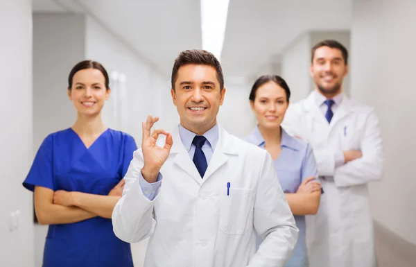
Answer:
[[223, 105], [225, 88], [221, 89], [214, 67], [205, 64], [180, 67], [171, 94], [181, 125], [198, 135], [211, 129]]

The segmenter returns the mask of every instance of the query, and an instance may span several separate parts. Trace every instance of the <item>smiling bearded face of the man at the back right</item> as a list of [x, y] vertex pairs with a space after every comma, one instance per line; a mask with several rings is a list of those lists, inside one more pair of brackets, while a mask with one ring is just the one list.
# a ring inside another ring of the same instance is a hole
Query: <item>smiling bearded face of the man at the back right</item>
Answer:
[[310, 71], [317, 89], [327, 98], [331, 98], [342, 92], [348, 65], [345, 64], [340, 49], [321, 46], [313, 55]]

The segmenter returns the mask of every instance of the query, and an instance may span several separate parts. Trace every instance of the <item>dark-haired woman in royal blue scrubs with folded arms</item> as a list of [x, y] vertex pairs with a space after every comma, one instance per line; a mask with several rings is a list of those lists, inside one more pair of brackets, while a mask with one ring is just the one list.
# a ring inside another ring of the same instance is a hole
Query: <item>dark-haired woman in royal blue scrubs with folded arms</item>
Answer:
[[130, 244], [114, 235], [111, 216], [137, 149], [135, 140], [101, 120], [110, 96], [101, 64], [76, 64], [68, 82], [76, 122], [44, 139], [23, 182], [35, 193], [37, 220], [49, 225], [43, 266], [131, 267]]

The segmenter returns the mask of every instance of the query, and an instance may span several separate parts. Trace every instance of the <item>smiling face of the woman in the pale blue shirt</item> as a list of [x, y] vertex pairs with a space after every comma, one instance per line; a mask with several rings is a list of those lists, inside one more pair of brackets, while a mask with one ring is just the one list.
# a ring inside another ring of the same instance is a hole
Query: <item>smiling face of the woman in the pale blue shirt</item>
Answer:
[[250, 105], [260, 127], [277, 129], [280, 128], [289, 103], [286, 91], [274, 81], [270, 81], [257, 89], [254, 101], [250, 101]]

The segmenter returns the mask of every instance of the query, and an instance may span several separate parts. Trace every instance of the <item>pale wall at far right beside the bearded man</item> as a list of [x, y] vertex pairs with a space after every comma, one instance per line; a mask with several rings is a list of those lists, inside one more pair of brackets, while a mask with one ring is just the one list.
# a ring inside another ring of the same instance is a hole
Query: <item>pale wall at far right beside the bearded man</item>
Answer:
[[351, 96], [380, 117], [385, 171], [370, 187], [374, 218], [416, 244], [415, 10], [408, 0], [354, 3]]

